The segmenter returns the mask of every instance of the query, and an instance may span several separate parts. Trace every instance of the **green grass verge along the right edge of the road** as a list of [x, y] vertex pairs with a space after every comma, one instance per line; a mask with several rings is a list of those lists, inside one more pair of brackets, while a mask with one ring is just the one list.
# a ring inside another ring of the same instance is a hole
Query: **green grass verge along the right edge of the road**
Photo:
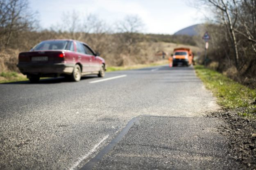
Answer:
[[195, 71], [224, 109], [244, 107], [245, 111], [240, 116], [256, 118], [256, 106], [251, 104], [255, 100], [256, 89], [250, 89], [202, 65], [195, 66]]

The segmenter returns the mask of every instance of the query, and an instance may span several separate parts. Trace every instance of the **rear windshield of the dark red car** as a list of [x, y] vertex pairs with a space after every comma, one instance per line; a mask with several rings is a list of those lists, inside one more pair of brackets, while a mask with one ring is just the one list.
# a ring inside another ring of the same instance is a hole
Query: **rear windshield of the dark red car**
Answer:
[[43, 41], [40, 42], [33, 50], [58, 50], [67, 49], [68, 42], [66, 40], [56, 40], [56, 41]]

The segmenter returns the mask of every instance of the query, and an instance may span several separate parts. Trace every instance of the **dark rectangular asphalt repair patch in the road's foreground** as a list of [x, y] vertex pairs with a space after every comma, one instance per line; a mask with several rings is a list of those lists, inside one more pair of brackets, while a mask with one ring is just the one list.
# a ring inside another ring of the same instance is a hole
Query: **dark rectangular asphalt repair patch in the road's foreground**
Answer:
[[240, 169], [217, 118], [140, 116], [95, 170]]

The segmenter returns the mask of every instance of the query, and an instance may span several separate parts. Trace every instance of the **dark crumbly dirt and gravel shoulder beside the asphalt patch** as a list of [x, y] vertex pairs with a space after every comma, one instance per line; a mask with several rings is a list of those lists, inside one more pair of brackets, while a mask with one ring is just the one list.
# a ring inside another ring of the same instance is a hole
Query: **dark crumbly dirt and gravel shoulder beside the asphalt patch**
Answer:
[[234, 159], [244, 164], [247, 169], [256, 170], [256, 120], [238, 116], [238, 113], [244, 110], [226, 110], [209, 116], [218, 117], [226, 122], [219, 132], [229, 138], [229, 148]]

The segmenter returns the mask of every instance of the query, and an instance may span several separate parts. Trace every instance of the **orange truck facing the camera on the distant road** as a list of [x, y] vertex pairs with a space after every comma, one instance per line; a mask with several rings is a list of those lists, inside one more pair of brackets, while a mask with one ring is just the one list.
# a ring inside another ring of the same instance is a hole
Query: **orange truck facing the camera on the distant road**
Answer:
[[189, 66], [193, 64], [193, 52], [189, 48], [175, 48], [172, 56], [169, 58], [170, 67], [177, 65]]

